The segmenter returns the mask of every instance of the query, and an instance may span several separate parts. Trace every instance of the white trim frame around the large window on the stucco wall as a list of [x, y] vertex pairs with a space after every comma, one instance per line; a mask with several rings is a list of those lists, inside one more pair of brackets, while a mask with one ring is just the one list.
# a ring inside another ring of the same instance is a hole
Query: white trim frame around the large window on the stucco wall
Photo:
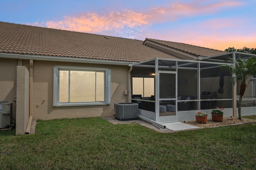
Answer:
[[[54, 66], [53, 67], [53, 106], [92, 106], [92, 105], [107, 105], [111, 101], [111, 70], [108, 68], [90, 68], [90, 67], [71, 67], [71, 66]], [[104, 71], [104, 101], [102, 102], [74, 102], [60, 103], [59, 102], [59, 70], [84, 70], [84, 71]]]

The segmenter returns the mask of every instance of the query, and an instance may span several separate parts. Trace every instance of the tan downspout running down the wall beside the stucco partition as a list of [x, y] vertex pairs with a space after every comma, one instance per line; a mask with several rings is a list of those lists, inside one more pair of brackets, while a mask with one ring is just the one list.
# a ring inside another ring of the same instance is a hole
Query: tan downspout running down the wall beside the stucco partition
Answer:
[[33, 60], [31, 59], [29, 61], [29, 66], [29, 118], [25, 134], [30, 134], [30, 128], [33, 119]]

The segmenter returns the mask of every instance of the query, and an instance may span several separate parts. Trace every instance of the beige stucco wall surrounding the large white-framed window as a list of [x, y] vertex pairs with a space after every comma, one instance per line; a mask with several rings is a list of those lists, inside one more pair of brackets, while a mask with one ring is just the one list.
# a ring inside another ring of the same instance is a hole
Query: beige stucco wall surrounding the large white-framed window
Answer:
[[[111, 103], [97, 106], [53, 107], [53, 67], [78, 66], [111, 69]], [[86, 64], [51, 61], [34, 61], [33, 118], [58, 119], [98, 117], [114, 114], [114, 103], [126, 102], [124, 90], [128, 90], [128, 66]]]

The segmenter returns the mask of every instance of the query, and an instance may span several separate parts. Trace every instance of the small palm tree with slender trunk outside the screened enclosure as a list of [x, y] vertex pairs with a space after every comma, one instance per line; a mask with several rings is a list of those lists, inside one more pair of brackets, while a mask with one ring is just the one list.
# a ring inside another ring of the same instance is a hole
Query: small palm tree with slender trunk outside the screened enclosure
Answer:
[[238, 102], [238, 119], [241, 120], [241, 106], [242, 98], [246, 90], [246, 80], [251, 76], [256, 75], [256, 56], [250, 57], [249, 59], [242, 59], [239, 57], [238, 60], [229, 57], [228, 60], [234, 62], [235, 66], [221, 65], [221, 67], [226, 68], [230, 73], [234, 73], [236, 75], [231, 79], [233, 84], [236, 83], [236, 80], [241, 80]]

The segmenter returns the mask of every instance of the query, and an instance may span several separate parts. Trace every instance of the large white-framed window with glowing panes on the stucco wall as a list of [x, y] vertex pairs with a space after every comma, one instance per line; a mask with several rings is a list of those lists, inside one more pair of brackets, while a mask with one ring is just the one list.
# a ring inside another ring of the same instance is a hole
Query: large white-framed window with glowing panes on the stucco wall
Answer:
[[110, 78], [107, 68], [56, 66], [53, 106], [110, 104]]

